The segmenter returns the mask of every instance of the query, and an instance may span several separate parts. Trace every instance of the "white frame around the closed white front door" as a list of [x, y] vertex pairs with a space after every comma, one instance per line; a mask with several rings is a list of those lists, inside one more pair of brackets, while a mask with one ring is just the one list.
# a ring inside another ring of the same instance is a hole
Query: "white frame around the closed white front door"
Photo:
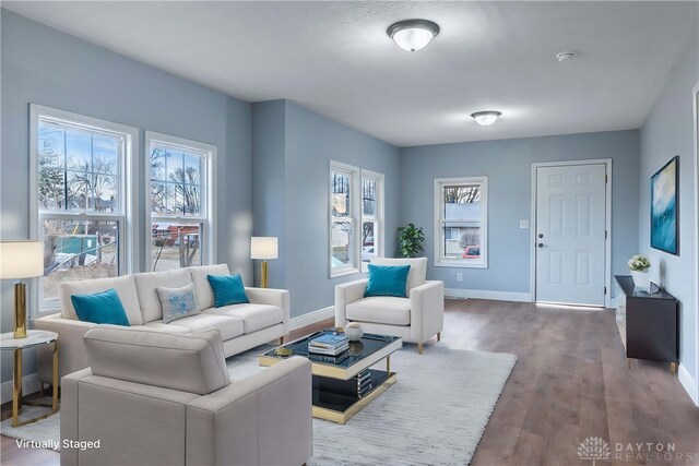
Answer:
[[607, 237], [604, 240], [604, 286], [607, 292], [604, 295], [604, 307], [612, 307], [612, 159], [591, 158], [587, 160], [558, 160], [558, 162], [535, 162], [532, 164], [532, 212], [530, 222], [530, 247], [531, 249], [531, 272], [530, 292], [532, 302], [536, 302], [536, 169], [542, 167], [566, 167], [572, 165], [605, 165], [607, 182], [605, 183], [605, 229]]

